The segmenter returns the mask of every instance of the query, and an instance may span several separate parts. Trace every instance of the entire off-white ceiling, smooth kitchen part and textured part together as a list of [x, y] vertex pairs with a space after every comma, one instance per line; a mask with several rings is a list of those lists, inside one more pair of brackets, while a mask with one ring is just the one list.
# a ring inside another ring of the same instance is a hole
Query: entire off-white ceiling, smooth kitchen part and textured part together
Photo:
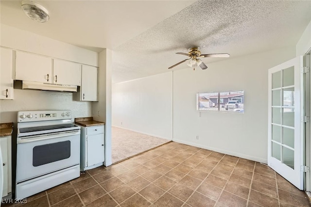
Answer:
[[[311, 20], [311, 0], [37, 2], [49, 10], [48, 22], [27, 18], [20, 0], [0, 0], [1, 23], [94, 51], [112, 49], [114, 83], [167, 72], [187, 58], [174, 53], [192, 47], [235, 58], [295, 46]], [[207, 66], [224, 59], [202, 58]]]

